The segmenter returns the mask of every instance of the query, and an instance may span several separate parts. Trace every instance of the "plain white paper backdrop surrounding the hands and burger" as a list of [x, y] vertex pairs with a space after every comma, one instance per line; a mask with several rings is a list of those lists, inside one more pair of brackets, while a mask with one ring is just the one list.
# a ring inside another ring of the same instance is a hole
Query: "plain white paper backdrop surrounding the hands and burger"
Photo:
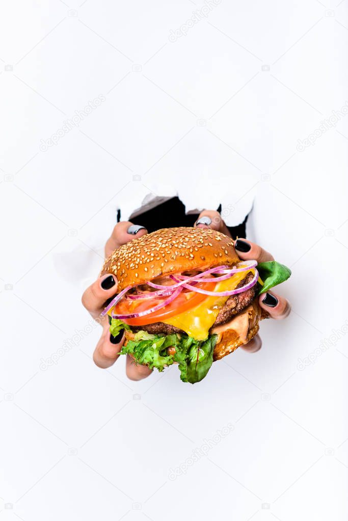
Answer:
[[[347, 1], [222, 0], [171, 42], [204, 5], [2, 4], [4, 521], [346, 519], [348, 116], [296, 146], [346, 103]], [[249, 237], [293, 270], [289, 319], [195, 386], [173, 366], [138, 383], [123, 360], [95, 367], [80, 304], [116, 208], [159, 181], [197, 206], [221, 194], [230, 223], [252, 194]]]

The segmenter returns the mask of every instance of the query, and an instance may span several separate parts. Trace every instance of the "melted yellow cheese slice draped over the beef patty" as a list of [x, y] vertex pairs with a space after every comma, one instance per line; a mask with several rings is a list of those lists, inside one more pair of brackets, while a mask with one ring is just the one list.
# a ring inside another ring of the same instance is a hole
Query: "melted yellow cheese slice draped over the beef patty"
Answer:
[[[251, 269], [252, 273], [255, 273]], [[219, 282], [214, 291], [230, 291], [238, 286], [239, 282], [243, 280], [248, 271], [240, 271], [235, 273], [231, 278]], [[200, 304], [184, 311], [175, 317], [170, 317], [167, 320], [161, 320], [165, 324], [170, 324], [179, 329], [182, 329], [190, 337], [196, 340], [205, 340], [208, 337], [209, 329], [213, 326], [216, 317], [223, 304], [227, 301], [228, 296], [207, 296]]]

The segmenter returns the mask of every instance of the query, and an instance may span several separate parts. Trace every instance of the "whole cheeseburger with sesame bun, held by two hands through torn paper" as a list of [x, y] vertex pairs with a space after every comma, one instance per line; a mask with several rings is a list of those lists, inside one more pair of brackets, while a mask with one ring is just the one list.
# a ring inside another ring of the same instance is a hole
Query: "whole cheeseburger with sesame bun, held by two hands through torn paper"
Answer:
[[105, 261], [118, 294], [105, 307], [110, 333], [125, 329], [121, 354], [156, 367], [179, 364], [202, 380], [213, 361], [250, 341], [267, 314], [257, 296], [290, 277], [275, 262], [241, 261], [233, 240], [207, 228], [165, 228], [133, 239]]

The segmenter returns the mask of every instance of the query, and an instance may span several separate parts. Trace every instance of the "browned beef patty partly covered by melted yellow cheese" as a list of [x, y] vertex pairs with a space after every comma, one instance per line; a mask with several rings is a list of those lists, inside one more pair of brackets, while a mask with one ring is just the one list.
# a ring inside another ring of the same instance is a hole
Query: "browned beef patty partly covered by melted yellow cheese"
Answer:
[[[245, 284], [250, 282], [253, 277], [254, 275], [252, 273], [248, 273], [247, 276], [240, 281], [236, 288], [242, 288], [242, 286], [245, 286]], [[237, 295], [231, 295], [230, 297], [228, 297], [227, 301], [220, 309], [219, 314], [216, 317], [216, 320], [212, 327], [220, 326], [221, 324], [228, 322], [228, 320], [231, 320], [233, 315], [236, 315], [237, 313], [242, 311], [242, 309], [247, 307], [254, 300], [255, 293], [256, 284], [252, 288], [243, 291], [242, 293], [238, 293]], [[170, 324], [165, 324], [164, 322], [155, 322], [154, 324], [147, 324], [145, 326], [132, 326], [132, 331], [140, 330], [147, 331], [151, 334], [184, 333], [182, 329], [179, 329], [175, 326], [171, 326]]]

